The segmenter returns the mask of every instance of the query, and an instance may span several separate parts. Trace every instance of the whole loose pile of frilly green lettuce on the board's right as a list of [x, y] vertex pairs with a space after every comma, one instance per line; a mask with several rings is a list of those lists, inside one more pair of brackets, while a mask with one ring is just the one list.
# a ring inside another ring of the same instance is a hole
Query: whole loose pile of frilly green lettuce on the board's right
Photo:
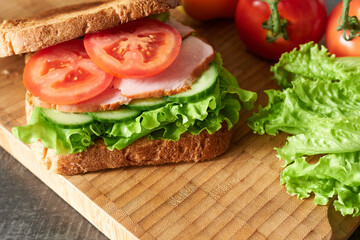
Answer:
[[[281, 183], [299, 198], [342, 214], [360, 215], [360, 57], [335, 58], [313, 43], [285, 53], [271, 71], [284, 90], [267, 90], [269, 102], [248, 121], [255, 133], [292, 134], [278, 157]], [[321, 154], [318, 162], [308, 163]]]

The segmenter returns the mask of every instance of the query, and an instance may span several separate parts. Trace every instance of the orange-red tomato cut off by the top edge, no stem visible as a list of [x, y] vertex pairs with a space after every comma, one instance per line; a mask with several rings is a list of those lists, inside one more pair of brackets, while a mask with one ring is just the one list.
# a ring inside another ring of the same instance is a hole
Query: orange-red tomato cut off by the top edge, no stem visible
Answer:
[[183, 0], [185, 12], [199, 21], [214, 18], [232, 18], [237, 0]]

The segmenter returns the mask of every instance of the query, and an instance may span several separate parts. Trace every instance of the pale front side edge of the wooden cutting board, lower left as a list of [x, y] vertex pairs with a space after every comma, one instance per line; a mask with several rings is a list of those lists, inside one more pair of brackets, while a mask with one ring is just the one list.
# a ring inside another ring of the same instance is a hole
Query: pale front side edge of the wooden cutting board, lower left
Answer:
[[[138, 239], [73, 185], [67, 177], [56, 175], [41, 166], [41, 164], [35, 160], [30, 147], [18, 140], [2, 125], [0, 125], [0, 146], [108, 238]], [[59, 188], [59, 186], [61, 187]], [[93, 218], [92, 216], [96, 217]], [[106, 219], [106, 224], [103, 224], [104, 219]]]

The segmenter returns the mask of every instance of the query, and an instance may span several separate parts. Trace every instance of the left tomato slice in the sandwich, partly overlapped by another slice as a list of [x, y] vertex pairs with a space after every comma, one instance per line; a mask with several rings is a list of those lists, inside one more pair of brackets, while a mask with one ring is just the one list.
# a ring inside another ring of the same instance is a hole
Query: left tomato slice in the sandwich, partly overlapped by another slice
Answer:
[[80, 39], [40, 50], [26, 64], [23, 75], [29, 92], [53, 104], [75, 104], [95, 97], [112, 79], [91, 61]]

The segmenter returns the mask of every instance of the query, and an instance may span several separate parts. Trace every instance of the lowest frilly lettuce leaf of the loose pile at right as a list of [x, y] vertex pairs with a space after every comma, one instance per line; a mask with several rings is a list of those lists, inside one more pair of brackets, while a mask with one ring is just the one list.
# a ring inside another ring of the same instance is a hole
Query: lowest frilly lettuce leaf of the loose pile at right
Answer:
[[281, 172], [281, 183], [287, 191], [299, 198], [307, 198], [313, 192], [314, 202], [326, 205], [334, 200], [335, 210], [343, 215], [360, 215], [360, 151], [328, 154], [316, 164], [298, 158]]

